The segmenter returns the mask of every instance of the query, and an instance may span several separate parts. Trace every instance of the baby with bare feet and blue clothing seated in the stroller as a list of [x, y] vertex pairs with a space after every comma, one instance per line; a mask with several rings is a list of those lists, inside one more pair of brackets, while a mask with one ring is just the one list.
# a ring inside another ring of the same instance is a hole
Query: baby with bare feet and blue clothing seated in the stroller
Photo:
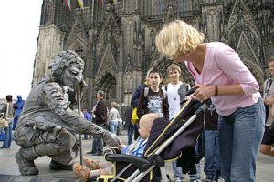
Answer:
[[[121, 154], [132, 155], [135, 157], [143, 157], [143, 151], [147, 143], [147, 138], [150, 134], [151, 127], [154, 119], [158, 118], [157, 114], [146, 114], [141, 117], [138, 139], [130, 146], [123, 144], [118, 146]], [[84, 181], [88, 181], [89, 178], [98, 177], [99, 175], [111, 175], [113, 174], [113, 164], [108, 161], [91, 160], [86, 158], [84, 160], [85, 166], [81, 166], [79, 163], [73, 165], [75, 174]]]

